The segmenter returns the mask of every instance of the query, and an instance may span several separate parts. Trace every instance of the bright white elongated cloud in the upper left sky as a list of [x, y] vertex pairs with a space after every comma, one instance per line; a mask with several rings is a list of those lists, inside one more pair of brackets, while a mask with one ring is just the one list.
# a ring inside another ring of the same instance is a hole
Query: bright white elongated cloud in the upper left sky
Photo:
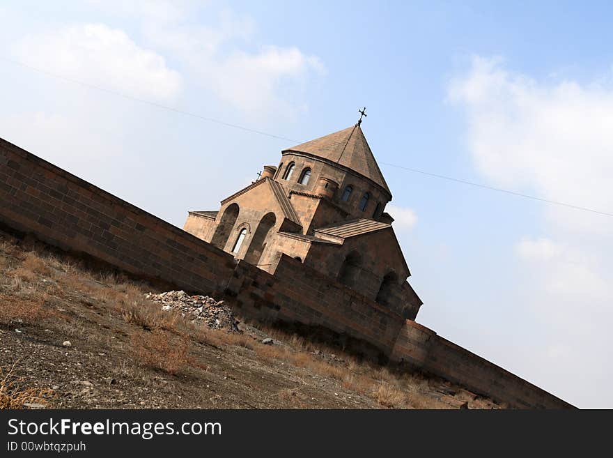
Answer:
[[121, 91], [128, 96], [168, 100], [181, 77], [160, 54], [139, 47], [124, 31], [104, 24], [68, 26], [17, 40], [15, 58], [63, 77]]

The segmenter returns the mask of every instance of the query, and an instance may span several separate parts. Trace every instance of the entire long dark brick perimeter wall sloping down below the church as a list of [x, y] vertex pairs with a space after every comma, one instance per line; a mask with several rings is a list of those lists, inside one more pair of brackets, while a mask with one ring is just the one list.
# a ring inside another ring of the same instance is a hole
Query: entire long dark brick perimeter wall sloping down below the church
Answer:
[[561, 399], [284, 254], [272, 273], [201, 241], [0, 139], [0, 225], [122, 270], [213, 296], [242, 313], [324, 330], [513, 407]]

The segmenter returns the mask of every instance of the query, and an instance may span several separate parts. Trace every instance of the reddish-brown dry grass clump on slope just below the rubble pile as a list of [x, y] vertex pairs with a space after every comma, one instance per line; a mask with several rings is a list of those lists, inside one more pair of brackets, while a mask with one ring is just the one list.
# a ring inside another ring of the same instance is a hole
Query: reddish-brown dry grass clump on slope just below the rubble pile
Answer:
[[189, 365], [189, 342], [156, 330], [153, 333], [134, 333], [132, 352], [141, 365], [177, 374]]

